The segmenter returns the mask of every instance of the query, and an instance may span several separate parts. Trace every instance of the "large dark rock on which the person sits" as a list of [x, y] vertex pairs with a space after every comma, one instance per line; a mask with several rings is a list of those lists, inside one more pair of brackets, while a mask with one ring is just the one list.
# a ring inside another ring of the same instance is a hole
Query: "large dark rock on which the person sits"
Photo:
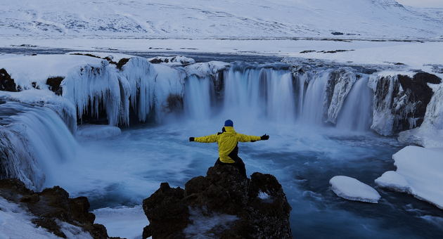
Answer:
[[291, 209], [271, 174], [255, 172], [247, 179], [236, 167], [216, 165], [184, 190], [162, 183], [143, 200], [150, 221], [143, 238], [293, 238]]

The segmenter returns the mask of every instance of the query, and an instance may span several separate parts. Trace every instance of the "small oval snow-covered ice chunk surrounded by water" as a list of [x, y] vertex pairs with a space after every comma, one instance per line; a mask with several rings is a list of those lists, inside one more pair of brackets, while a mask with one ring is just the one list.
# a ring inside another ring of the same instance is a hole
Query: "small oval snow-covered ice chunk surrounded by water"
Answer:
[[335, 176], [329, 183], [335, 194], [347, 200], [377, 203], [381, 198], [374, 188], [348, 176]]

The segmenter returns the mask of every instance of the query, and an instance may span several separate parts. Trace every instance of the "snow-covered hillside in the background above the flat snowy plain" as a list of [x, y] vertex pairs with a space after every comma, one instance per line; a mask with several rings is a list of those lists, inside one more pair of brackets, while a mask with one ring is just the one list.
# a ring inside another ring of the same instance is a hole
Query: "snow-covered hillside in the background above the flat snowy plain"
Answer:
[[394, 0], [3, 0], [1, 5], [2, 38], [443, 36], [438, 11], [427, 14]]

